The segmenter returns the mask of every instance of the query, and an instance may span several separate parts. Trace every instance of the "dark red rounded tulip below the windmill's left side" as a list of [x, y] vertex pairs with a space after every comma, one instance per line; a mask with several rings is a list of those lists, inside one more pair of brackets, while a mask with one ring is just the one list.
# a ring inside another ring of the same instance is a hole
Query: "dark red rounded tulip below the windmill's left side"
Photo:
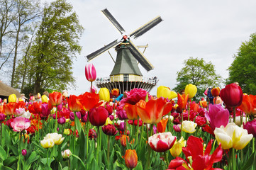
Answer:
[[91, 108], [89, 111], [91, 125], [102, 126], [106, 123], [106, 118], [108, 118], [108, 111], [103, 106], [100, 106], [99, 108]]

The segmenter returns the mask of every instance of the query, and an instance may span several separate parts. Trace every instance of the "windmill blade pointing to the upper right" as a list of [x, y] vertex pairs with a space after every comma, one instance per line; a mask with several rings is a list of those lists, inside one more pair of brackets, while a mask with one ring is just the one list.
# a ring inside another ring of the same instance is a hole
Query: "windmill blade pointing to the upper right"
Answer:
[[133, 31], [133, 33], [130, 33], [130, 37], [133, 35], [134, 35], [134, 38], [140, 37], [140, 35], [143, 35], [154, 26], [157, 26], [157, 24], [160, 23], [161, 21], [162, 21], [162, 18], [160, 16], [157, 16], [156, 18], [152, 19], [148, 23], [145, 23], [145, 25]]

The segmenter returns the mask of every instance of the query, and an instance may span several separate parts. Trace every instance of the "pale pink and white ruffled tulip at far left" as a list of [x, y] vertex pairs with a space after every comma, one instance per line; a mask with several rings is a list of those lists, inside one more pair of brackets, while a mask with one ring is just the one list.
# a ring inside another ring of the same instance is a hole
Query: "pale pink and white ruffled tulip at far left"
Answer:
[[30, 127], [30, 120], [23, 117], [17, 117], [11, 123], [11, 127], [13, 128], [13, 131], [21, 132]]

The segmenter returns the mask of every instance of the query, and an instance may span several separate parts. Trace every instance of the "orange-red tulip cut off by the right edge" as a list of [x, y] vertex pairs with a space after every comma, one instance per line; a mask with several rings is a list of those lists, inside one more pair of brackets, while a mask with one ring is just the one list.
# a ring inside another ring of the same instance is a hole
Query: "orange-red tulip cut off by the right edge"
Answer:
[[243, 112], [245, 112], [248, 115], [255, 115], [256, 114], [256, 96], [252, 94], [244, 95], [243, 102], [238, 108], [240, 108]]

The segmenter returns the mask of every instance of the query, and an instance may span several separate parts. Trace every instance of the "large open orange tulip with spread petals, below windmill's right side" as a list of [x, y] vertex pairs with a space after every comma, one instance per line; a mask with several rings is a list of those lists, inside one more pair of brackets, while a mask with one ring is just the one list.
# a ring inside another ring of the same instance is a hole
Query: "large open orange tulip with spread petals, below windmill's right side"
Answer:
[[151, 99], [148, 102], [140, 100], [136, 106], [141, 120], [149, 124], [159, 123], [163, 115], [172, 111], [172, 103], [166, 102], [163, 98]]

